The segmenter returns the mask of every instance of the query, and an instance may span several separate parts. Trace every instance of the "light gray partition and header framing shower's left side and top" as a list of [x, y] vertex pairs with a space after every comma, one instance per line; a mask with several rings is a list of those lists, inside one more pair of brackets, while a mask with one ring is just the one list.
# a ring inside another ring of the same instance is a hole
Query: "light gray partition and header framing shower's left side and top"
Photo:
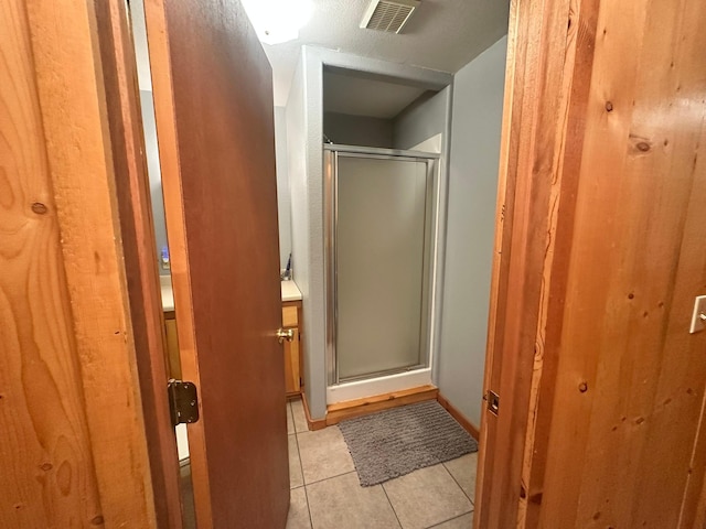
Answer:
[[304, 382], [313, 419], [325, 417], [325, 285], [323, 247], [323, 67], [387, 76], [440, 90], [452, 77], [442, 72], [303, 46], [287, 102], [295, 280], [302, 293]]

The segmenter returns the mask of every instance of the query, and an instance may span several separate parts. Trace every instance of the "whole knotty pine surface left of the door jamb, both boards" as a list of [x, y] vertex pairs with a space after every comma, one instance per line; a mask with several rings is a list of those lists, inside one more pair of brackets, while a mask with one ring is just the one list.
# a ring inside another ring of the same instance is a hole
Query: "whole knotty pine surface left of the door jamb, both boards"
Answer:
[[152, 527], [95, 13], [0, 6], [0, 526]]

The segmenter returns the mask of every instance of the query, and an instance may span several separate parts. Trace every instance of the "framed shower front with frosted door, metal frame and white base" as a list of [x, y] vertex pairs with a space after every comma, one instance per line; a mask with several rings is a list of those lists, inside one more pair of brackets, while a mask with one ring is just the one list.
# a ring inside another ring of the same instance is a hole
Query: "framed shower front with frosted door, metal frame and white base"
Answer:
[[329, 402], [430, 382], [437, 164], [324, 147]]

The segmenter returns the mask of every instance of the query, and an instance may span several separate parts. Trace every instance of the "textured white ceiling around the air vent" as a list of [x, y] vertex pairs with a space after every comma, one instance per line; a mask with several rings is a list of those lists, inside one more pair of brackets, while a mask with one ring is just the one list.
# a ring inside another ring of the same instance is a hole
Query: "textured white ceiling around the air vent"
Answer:
[[509, 0], [421, 0], [403, 33], [359, 28], [370, 0], [313, 0], [299, 40], [264, 44], [275, 105], [285, 106], [302, 44], [456, 73], [507, 33]]

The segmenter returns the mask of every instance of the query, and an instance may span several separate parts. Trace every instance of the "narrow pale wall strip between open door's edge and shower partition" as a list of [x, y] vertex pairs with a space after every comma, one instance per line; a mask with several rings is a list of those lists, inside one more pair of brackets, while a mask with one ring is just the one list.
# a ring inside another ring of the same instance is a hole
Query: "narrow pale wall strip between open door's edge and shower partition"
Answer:
[[277, 156], [277, 217], [279, 219], [279, 268], [287, 267], [291, 252], [291, 198], [287, 168], [287, 110], [275, 107], [275, 152]]

